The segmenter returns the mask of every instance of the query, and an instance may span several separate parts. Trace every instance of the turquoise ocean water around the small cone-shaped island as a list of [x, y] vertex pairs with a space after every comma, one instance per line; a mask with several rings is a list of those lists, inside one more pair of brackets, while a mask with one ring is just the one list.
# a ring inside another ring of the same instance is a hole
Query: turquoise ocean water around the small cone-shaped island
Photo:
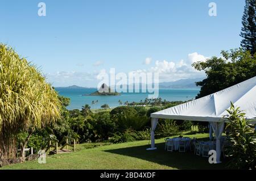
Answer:
[[[68, 110], [79, 109], [82, 106], [89, 104], [92, 109], [98, 109], [103, 104], [108, 104], [111, 108], [119, 106], [118, 100], [122, 103], [128, 101], [140, 102], [148, 97], [148, 93], [121, 93], [118, 96], [97, 96], [89, 95], [92, 92], [97, 91], [97, 89], [67, 89], [56, 87], [55, 90], [59, 92], [60, 95], [68, 97], [71, 99], [71, 104], [67, 107]], [[159, 97], [163, 100], [176, 101], [176, 100], [189, 100], [195, 99], [195, 96], [199, 93], [200, 89], [159, 89]], [[98, 100], [97, 104], [92, 104], [92, 101]]]

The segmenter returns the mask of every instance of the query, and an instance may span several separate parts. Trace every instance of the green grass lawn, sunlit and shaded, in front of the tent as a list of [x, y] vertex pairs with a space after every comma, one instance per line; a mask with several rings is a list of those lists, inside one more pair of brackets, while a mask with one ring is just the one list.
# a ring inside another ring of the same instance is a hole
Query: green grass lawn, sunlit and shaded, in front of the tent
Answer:
[[[208, 139], [207, 134], [184, 135]], [[208, 158], [193, 153], [168, 152], [164, 140], [156, 140], [157, 150], [149, 148], [148, 141], [122, 144], [77, 145], [75, 153], [47, 156], [46, 164], [30, 161], [3, 167], [2, 169], [225, 169], [225, 163], [208, 163]], [[88, 148], [89, 149], [85, 149]]]

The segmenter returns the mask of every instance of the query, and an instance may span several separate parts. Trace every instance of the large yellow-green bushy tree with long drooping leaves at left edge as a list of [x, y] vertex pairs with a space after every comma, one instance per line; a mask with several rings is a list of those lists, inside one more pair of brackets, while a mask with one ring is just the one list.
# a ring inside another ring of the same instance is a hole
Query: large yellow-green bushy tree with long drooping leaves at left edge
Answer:
[[[59, 119], [58, 94], [39, 70], [10, 47], [0, 44], [0, 159], [16, 156], [20, 131], [33, 131]], [[24, 157], [24, 154], [22, 154]]]

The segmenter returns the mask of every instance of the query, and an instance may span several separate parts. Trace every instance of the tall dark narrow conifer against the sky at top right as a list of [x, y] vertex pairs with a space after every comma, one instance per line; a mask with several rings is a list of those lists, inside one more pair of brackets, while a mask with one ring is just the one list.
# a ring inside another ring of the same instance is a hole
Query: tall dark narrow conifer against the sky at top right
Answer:
[[251, 54], [256, 53], [256, 1], [245, 0], [245, 11], [242, 17], [242, 31], [240, 36], [243, 38], [241, 47], [249, 50]]

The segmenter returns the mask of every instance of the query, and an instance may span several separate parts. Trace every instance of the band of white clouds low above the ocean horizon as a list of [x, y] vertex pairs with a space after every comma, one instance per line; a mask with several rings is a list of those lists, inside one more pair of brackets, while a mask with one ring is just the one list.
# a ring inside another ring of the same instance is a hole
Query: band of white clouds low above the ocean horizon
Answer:
[[[158, 60], [154, 66], [148, 69], [138, 69], [133, 72], [157, 72], [159, 73], [160, 82], [176, 81], [183, 78], [196, 78], [205, 77], [204, 71], [195, 70], [191, 64], [197, 61], [205, 61], [208, 57], [205, 57], [197, 52], [188, 54], [185, 60], [168, 61]], [[150, 60], [151, 61], [151, 60]], [[101, 65], [103, 62], [97, 61], [94, 65]], [[127, 70], [129, 71], [129, 70]], [[99, 71], [94, 70], [90, 72], [78, 72], [78, 71], [58, 71], [56, 73], [49, 73], [46, 75], [49, 82], [53, 83], [53, 86], [89, 86], [95, 87], [96, 83], [101, 79], [99, 75], [109, 73], [108, 70], [101, 69]], [[116, 72], [117, 74], [118, 72]]]

